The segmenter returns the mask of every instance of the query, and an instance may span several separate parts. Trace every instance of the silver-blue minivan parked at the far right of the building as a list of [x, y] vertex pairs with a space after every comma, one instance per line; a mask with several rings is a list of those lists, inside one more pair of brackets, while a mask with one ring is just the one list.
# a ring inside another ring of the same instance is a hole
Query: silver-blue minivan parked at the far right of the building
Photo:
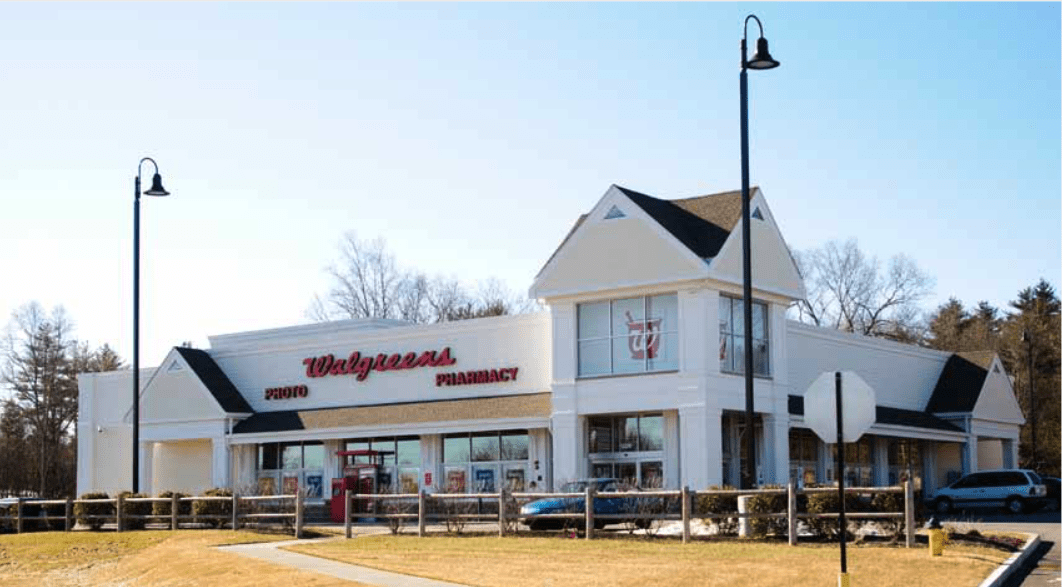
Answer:
[[1035, 472], [1000, 469], [970, 473], [928, 500], [938, 514], [962, 507], [1004, 507], [1012, 514], [1031, 512], [1047, 503], [1047, 487]]

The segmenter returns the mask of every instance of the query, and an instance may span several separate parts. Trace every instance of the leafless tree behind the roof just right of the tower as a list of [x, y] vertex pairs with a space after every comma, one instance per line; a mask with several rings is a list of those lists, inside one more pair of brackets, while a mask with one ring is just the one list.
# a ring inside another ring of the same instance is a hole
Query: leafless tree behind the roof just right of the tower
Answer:
[[932, 291], [933, 279], [910, 257], [896, 255], [883, 270], [849, 239], [794, 258], [807, 290], [796, 305], [801, 322], [907, 342], [924, 336], [918, 303]]

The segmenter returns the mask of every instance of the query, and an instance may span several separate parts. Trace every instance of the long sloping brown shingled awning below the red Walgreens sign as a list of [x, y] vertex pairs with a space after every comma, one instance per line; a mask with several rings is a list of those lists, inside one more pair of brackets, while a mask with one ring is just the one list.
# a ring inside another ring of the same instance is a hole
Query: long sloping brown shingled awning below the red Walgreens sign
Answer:
[[463, 420], [548, 419], [551, 410], [550, 394], [538, 393], [352, 408], [259, 412], [237, 424], [233, 433], [260, 434], [263, 432]]

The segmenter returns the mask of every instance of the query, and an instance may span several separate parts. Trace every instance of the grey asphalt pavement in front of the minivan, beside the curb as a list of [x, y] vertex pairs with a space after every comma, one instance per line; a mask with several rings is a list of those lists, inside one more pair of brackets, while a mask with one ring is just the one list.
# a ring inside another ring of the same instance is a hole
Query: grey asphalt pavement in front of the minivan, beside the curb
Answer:
[[1014, 575], [1005, 587], [1062, 587], [1060, 575], [1060, 545], [1062, 545], [1062, 516], [1058, 510], [1040, 511], [1035, 514], [1014, 516], [998, 511], [970, 511], [943, 518], [944, 523], [970, 524], [980, 532], [1034, 532], [1040, 534], [1042, 543], [1030, 562]]

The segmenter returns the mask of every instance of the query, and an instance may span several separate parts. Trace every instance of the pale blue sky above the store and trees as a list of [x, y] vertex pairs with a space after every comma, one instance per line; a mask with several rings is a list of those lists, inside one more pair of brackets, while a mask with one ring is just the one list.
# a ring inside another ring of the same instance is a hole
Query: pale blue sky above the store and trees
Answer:
[[793, 248], [856, 237], [955, 295], [1060, 282], [1060, 5], [0, 4], [0, 313], [64, 305], [141, 357], [305, 322], [345, 230], [525, 291], [611, 184], [752, 180]]

